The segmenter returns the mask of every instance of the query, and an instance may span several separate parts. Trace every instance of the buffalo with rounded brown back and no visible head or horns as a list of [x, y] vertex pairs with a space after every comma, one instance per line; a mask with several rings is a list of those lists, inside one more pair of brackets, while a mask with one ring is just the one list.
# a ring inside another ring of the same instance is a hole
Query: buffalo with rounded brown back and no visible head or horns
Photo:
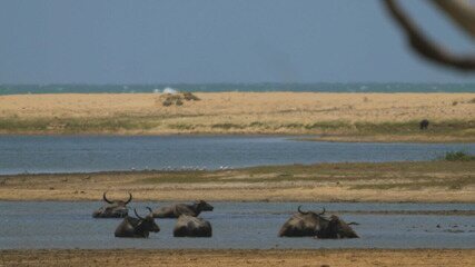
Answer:
[[211, 237], [211, 235], [209, 221], [188, 215], [178, 217], [174, 229], [174, 237]]

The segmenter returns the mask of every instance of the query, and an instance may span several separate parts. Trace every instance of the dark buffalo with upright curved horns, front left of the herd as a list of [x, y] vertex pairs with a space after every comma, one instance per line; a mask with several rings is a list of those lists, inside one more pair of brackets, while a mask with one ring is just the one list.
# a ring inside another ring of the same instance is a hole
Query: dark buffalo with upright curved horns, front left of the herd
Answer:
[[147, 238], [152, 233], [159, 233], [160, 227], [155, 222], [151, 208], [147, 207], [150, 211], [145, 218], [140, 217], [137, 214], [137, 210], [133, 209], [137, 218], [126, 216], [122, 222], [116, 228], [113, 234], [116, 237], [142, 237]]

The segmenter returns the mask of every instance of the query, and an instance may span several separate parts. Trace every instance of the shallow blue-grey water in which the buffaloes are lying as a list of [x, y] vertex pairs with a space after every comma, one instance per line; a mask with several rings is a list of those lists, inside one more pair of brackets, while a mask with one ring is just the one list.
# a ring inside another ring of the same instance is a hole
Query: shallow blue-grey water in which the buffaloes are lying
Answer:
[[[93, 219], [100, 202], [0, 201], [0, 249], [19, 248], [475, 248], [474, 216], [339, 214], [358, 239], [278, 238], [280, 226], [298, 204], [214, 202], [202, 217], [211, 238], [174, 238], [175, 219], [157, 219], [161, 228], [148, 239], [115, 238], [121, 219]], [[161, 202], [133, 202], [157, 207]], [[304, 209], [338, 210], [474, 210], [473, 204], [303, 204]], [[437, 227], [439, 225], [439, 228]]]

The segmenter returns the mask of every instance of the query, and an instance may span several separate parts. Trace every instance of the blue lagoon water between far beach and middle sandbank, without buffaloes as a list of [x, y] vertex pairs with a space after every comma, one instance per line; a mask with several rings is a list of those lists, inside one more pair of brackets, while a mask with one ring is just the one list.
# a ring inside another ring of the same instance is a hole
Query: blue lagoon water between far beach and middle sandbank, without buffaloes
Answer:
[[268, 136], [0, 136], [0, 175], [432, 160], [475, 144], [349, 144]]

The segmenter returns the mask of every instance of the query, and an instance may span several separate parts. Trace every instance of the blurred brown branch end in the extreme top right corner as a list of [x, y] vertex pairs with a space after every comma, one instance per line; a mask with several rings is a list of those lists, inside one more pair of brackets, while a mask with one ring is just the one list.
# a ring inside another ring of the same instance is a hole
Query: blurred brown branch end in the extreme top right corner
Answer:
[[475, 38], [475, 8], [466, 0], [431, 0], [472, 38]]

